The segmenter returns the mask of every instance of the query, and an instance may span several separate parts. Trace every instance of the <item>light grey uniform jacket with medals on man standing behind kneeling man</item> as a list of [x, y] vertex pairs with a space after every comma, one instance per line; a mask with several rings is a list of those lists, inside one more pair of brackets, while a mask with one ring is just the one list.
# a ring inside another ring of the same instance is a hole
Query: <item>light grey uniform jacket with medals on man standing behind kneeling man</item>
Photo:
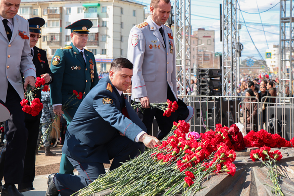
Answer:
[[166, 102], [168, 85], [176, 98], [172, 29], [166, 25], [163, 29], [166, 46], [150, 16], [131, 29], [127, 54], [134, 64], [132, 100], [148, 96], [150, 103]]

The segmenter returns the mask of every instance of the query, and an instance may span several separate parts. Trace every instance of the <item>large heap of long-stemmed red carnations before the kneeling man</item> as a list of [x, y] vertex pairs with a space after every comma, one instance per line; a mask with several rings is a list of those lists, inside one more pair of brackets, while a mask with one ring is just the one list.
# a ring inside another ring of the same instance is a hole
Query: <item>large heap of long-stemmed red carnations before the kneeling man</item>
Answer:
[[109, 196], [190, 196], [202, 189], [201, 183], [211, 173], [234, 175], [236, 153], [231, 140], [240, 146], [238, 127], [219, 124], [215, 131], [200, 135], [189, 133], [189, 128], [185, 121], [174, 122], [161, 145], [100, 176], [76, 194], [88, 196], [111, 189]]

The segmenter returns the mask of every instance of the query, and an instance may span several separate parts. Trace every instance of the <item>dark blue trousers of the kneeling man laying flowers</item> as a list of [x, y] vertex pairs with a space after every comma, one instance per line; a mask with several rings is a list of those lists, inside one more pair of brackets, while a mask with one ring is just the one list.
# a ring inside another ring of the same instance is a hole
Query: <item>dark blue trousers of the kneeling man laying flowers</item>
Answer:
[[[138, 152], [139, 144], [125, 136], [117, 135], [105, 144], [109, 160], [113, 159], [110, 170], [113, 170], [130, 158], [134, 158]], [[96, 180], [99, 175], [105, 174], [103, 163], [84, 163], [67, 156], [80, 175], [57, 174], [55, 185], [61, 196], [70, 196], [76, 191], [85, 188]]]

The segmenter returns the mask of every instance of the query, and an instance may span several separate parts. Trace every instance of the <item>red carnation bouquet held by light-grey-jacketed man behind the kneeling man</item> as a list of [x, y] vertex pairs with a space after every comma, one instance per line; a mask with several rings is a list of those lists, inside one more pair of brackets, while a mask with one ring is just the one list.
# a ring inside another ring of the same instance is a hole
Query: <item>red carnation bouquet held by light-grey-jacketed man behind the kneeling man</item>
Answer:
[[[136, 109], [136, 108], [142, 109], [141, 103], [132, 105], [132, 107], [133, 107], [133, 109]], [[172, 112], [175, 112], [175, 110], [177, 110], [179, 108], [179, 106], [176, 101], [172, 102], [168, 99], [167, 102], [150, 103], [150, 108], [151, 109], [154, 109], [154, 108], [160, 109], [160, 110], [164, 111], [163, 116], [169, 117], [169, 116], [171, 116]]]

